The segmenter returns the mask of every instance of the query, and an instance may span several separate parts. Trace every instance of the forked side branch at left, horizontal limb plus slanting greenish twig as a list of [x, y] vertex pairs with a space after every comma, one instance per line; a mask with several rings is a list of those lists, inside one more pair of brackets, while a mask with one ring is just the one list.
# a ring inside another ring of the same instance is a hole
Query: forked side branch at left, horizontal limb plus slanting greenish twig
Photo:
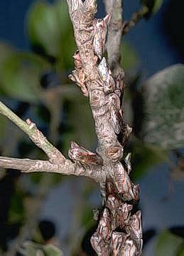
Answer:
[[23, 173], [48, 172], [65, 175], [83, 175], [92, 178], [97, 183], [105, 181], [106, 174], [102, 170], [102, 165], [82, 165], [80, 161], [72, 163], [71, 160], [67, 160], [57, 148], [48, 142], [43, 133], [38, 130], [36, 124], [31, 122], [30, 119], [27, 119], [26, 122], [22, 121], [21, 118], [18, 118], [13, 111], [1, 102], [0, 113], [21, 128], [49, 158], [49, 161], [44, 161], [0, 157], [0, 168], [21, 170]]

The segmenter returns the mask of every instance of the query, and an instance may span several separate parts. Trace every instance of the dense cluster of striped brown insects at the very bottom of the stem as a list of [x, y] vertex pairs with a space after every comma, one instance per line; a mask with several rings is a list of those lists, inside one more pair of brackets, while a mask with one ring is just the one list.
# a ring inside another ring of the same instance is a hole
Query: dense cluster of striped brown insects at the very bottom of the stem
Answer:
[[[142, 248], [141, 212], [131, 215], [133, 206], [122, 203], [114, 181], [107, 179], [104, 208], [97, 230], [91, 237], [92, 246], [97, 255], [139, 256]], [[97, 220], [97, 210], [94, 213]]]

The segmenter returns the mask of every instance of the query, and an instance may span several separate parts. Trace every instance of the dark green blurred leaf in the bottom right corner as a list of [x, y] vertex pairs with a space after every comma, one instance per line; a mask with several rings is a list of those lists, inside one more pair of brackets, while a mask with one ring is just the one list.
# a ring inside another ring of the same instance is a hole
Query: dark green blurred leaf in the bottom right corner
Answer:
[[165, 230], [158, 235], [156, 242], [156, 256], [175, 256], [182, 243], [183, 238], [173, 235], [168, 230]]

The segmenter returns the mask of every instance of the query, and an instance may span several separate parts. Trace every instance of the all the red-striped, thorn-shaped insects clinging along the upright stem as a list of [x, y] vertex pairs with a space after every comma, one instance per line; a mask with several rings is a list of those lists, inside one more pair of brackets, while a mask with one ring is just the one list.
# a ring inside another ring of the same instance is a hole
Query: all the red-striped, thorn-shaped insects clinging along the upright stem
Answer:
[[[116, 77], [112, 76], [106, 58], [103, 57], [110, 19], [111, 17], [107, 15], [104, 19], [92, 21], [90, 42], [97, 66], [97, 83], [102, 88], [102, 91], [97, 90], [97, 93], [102, 93], [107, 99], [109, 123], [114, 133], [121, 138], [119, 139], [121, 145], [114, 145], [106, 150], [107, 158], [109, 157], [113, 163], [114, 175], [107, 175], [106, 183], [100, 184], [103, 210], [101, 213], [97, 209], [94, 210], [94, 220], [98, 221], [98, 227], [92, 235], [91, 243], [97, 255], [139, 256], [142, 248], [141, 212], [138, 211], [132, 215], [133, 205], [129, 203], [132, 200], [134, 202], [139, 200], [139, 185], [134, 185], [129, 178], [131, 154], [126, 155], [123, 164], [119, 161], [132, 130], [128, 124], [123, 123], [121, 96], [124, 92], [124, 79], [121, 73]], [[77, 86], [80, 86], [83, 95], [88, 97], [87, 77], [82, 66], [80, 52], [76, 51], [73, 58], [75, 70], [72, 71], [70, 78], [77, 83]], [[96, 99], [102, 94], [97, 94]], [[103, 165], [100, 155], [74, 142], [71, 143], [68, 155], [71, 160], [83, 165], [84, 168], [90, 165]]]

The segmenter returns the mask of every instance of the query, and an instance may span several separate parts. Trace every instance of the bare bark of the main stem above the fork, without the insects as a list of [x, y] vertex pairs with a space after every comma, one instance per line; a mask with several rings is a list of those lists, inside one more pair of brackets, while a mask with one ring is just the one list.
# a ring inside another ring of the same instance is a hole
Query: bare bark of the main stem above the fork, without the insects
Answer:
[[[97, 21], [94, 20], [97, 4], [93, 0], [87, 0], [84, 4], [82, 4], [81, 0], [67, 0], [67, 4], [74, 28], [75, 41], [80, 52], [82, 71], [85, 74], [85, 82], [90, 95], [90, 106], [98, 140], [97, 153], [102, 156], [104, 163], [109, 165], [112, 157], [107, 153], [107, 149], [117, 148], [119, 150], [119, 158], [121, 158], [122, 147], [112, 126], [112, 118], [109, 112], [110, 96], [104, 93], [104, 82], [99, 76], [97, 56], [92, 48], [92, 35], [95, 33], [94, 22]], [[109, 171], [111, 170], [109, 168]]]

